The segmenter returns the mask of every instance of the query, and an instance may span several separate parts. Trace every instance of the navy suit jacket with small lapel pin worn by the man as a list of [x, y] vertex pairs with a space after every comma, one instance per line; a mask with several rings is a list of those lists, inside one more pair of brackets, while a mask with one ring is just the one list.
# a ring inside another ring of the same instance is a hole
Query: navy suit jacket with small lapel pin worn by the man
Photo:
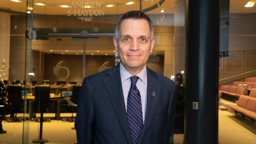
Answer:
[[[78, 144], [132, 144], [119, 66], [84, 79], [75, 118]], [[149, 68], [147, 81], [146, 115], [138, 144], [167, 144], [176, 114], [176, 84]]]

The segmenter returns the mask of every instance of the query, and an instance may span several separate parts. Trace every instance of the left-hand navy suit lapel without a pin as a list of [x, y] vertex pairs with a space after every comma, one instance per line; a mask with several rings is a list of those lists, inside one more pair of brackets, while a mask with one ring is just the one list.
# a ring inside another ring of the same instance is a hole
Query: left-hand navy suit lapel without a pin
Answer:
[[118, 68], [119, 64], [108, 72], [109, 76], [104, 79], [104, 83], [123, 134], [127, 142], [131, 144], [132, 140], [125, 110], [121, 76]]

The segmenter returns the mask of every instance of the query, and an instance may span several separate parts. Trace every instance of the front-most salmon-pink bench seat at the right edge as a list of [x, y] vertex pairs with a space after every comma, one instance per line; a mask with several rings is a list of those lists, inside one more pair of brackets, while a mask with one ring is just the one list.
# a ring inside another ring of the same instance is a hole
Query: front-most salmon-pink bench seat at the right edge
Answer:
[[240, 95], [237, 105], [229, 104], [227, 106], [233, 109], [236, 115], [240, 115], [243, 118], [251, 120], [252, 122], [256, 120], [256, 98], [255, 97]]

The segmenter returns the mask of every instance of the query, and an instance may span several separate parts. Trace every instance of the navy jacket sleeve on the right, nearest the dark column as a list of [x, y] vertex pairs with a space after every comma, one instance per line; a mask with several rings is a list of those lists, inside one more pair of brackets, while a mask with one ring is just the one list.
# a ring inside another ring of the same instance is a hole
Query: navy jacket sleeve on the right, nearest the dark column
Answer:
[[171, 136], [171, 131], [173, 127], [173, 122], [175, 120], [176, 115], [176, 99], [177, 99], [177, 91], [176, 91], [176, 84], [174, 83], [172, 94], [170, 97], [170, 102], [168, 106], [168, 118], [165, 123], [165, 129], [164, 129], [164, 143], [168, 144], [169, 139]]

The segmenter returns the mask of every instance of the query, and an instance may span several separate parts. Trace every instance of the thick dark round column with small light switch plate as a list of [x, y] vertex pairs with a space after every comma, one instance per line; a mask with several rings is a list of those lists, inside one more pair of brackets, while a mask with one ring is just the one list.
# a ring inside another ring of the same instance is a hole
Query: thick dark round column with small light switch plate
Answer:
[[220, 0], [187, 0], [184, 144], [218, 143], [219, 41]]

